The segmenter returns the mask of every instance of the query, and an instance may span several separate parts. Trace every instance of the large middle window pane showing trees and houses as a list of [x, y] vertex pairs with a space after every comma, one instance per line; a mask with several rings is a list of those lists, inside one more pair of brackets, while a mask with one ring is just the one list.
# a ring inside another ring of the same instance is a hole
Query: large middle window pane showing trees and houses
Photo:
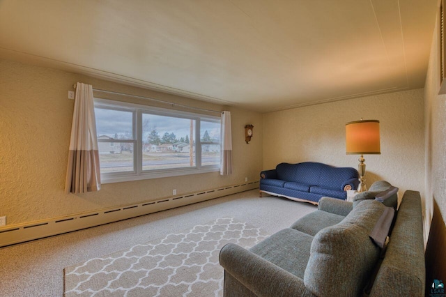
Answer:
[[195, 120], [142, 114], [142, 125], [143, 170], [197, 166]]

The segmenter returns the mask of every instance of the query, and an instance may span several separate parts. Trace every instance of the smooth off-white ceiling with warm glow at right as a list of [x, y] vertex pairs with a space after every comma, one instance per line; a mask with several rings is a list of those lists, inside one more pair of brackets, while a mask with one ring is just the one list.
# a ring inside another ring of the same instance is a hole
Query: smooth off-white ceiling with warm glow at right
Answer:
[[0, 57], [268, 112], [424, 86], [438, 0], [0, 0]]

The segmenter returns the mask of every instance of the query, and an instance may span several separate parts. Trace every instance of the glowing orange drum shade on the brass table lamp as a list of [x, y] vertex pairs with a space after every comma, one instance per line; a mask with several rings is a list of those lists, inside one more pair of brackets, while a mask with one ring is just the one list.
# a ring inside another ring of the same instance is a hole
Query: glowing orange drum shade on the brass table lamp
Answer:
[[346, 153], [380, 154], [379, 121], [361, 120], [346, 123]]

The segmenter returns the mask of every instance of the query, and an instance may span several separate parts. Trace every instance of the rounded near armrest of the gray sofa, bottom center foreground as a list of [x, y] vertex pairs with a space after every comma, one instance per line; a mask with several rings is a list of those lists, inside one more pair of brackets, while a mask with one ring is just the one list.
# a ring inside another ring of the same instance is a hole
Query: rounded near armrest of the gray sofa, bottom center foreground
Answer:
[[301, 278], [233, 243], [220, 251], [220, 265], [256, 296], [314, 296]]

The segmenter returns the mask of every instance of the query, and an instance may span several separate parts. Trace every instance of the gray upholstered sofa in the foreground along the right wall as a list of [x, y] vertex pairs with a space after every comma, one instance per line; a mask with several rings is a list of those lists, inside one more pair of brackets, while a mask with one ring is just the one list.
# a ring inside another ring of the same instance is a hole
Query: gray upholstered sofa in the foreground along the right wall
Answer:
[[[225, 245], [224, 296], [424, 296], [420, 193], [406, 191], [392, 220], [397, 194], [374, 199], [388, 185], [374, 183], [353, 203], [324, 197], [317, 211], [249, 250]], [[383, 248], [377, 233], [389, 235]]]

